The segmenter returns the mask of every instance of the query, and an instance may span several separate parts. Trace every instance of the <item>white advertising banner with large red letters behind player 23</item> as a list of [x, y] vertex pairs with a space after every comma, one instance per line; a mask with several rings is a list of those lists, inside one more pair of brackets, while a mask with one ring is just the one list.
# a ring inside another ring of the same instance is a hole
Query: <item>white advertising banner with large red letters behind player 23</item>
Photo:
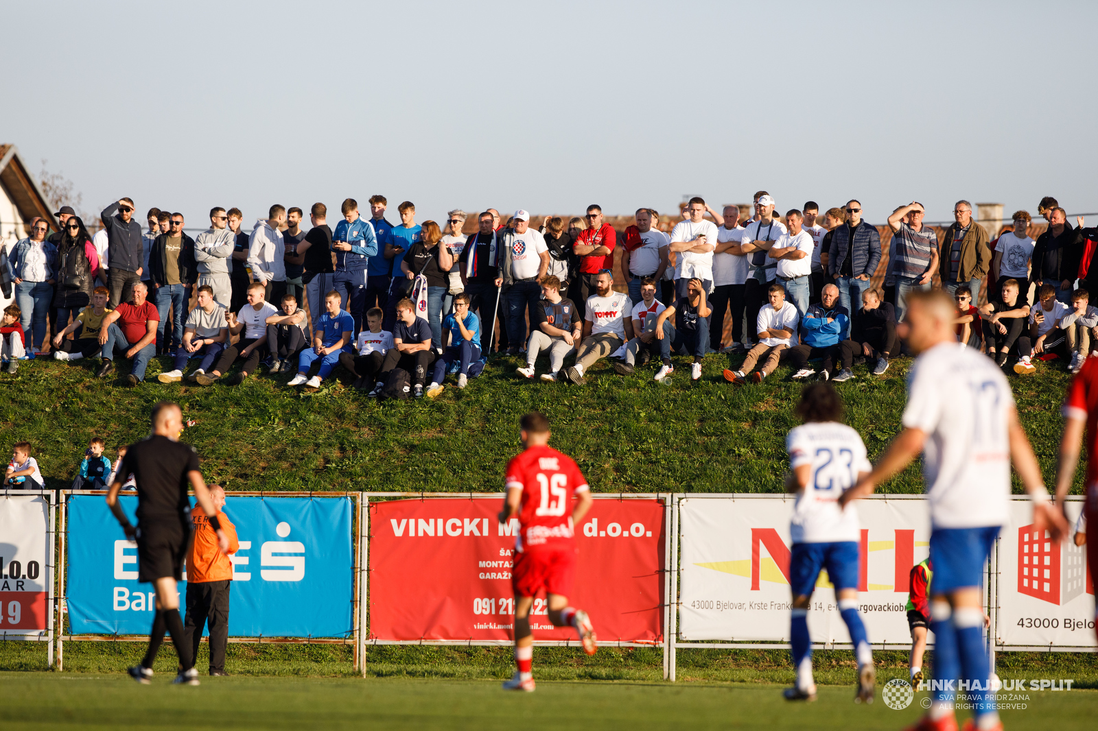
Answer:
[[[789, 639], [793, 496], [685, 497], [680, 503], [680, 638]], [[911, 567], [927, 558], [926, 501], [858, 502], [859, 605], [871, 642], [909, 643], [905, 606]], [[813, 642], [850, 642], [824, 572], [808, 612]]]

